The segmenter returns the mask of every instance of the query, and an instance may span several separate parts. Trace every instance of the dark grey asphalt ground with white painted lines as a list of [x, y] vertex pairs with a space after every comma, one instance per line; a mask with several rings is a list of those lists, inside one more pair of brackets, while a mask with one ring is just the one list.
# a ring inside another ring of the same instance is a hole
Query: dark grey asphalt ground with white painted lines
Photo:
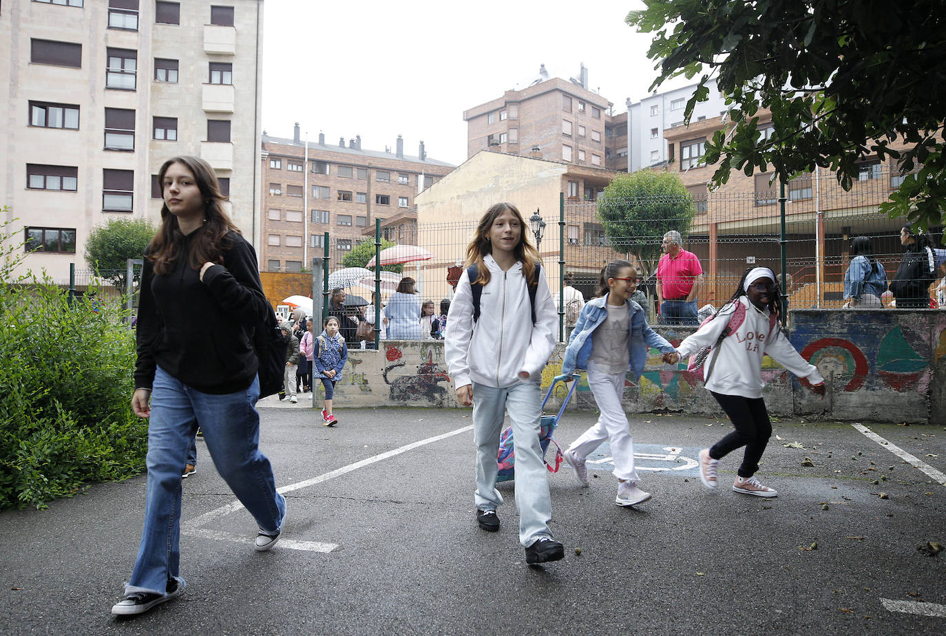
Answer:
[[[500, 531], [477, 528], [468, 410], [342, 407], [329, 429], [303, 403], [261, 407], [261, 447], [289, 503], [272, 552], [254, 552], [254, 521], [199, 443], [179, 598], [110, 614], [140, 538], [140, 475], [0, 514], [0, 632], [946, 633], [946, 552], [918, 549], [946, 544], [946, 486], [891, 451], [944, 472], [941, 427], [867, 424], [884, 444], [848, 423], [778, 421], [759, 477], [780, 494], [762, 499], [728, 487], [741, 452], [716, 491], [699, 482], [691, 460], [726, 420], [632, 414], [654, 498], [614, 504], [606, 447], [588, 488], [563, 465], [550, 486], [566, 557], [530, 567], [512, 484], [500, 486]], [[594, 419], [565, 415], [562, 447]]]

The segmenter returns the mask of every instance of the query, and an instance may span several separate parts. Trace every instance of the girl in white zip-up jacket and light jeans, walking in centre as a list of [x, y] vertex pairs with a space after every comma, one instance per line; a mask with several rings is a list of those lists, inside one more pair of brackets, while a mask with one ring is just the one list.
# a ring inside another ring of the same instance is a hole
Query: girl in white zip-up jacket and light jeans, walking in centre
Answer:
[[[516, 452], [519, 541], [527, 563], [544, 563], [565, 555], [549, 530], [552, 502], [538, 441], [539, 382], [555, 344], [557, 315], [527, 227], [512, 203], [496, 203], [483, 215], [450, 304], [445, 355], [457, 400], [473, 404], [477, 521], [483, 530], [499, 530], [497, 456], [507, 412]], [[473, 280], [471, 266], [476, 266]], [[475, 288], [480, 292], [476, 316]]]

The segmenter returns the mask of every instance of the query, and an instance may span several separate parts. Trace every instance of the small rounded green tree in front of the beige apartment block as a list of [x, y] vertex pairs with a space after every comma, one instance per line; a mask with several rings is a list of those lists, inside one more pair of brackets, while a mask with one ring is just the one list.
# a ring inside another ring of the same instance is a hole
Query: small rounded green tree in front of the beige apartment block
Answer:
[[145, 219], [113, 219], [96, 225], [85, 243], [85, 260], [96, 274], [125, 290], [128, 259], [144, 255], [154, 232], [154, 226]]

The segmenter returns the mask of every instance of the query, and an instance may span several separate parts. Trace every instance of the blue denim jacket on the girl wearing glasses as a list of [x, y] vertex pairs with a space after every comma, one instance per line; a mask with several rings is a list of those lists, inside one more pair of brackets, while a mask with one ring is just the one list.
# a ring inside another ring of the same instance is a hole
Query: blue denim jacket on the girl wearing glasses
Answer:
[[[565, 358], [562, 361], [564, 375], [571, 375], [576, 368], [587, 368], [588, 359], [591, 357], [591, 333], [607, 318], [607, 309], [604, 307], [606, 302], [607, 296], [604, 295], [600, 298], [592, 298], [582, 308], [578, 322], [571, 331], [569, 346], [565, 349]], [[673, 344], [668, 343], [663, 336], [647, 325], [644, 310], [637, 303], [633, 300], [627, 301], [627, 310], [631, 312], [629, 327], [631, 333], [627, 340], [629, 369], [633, 374], [632, 380], [638, 383], [644, 365], [647, 363], [648, 347], [660, 349], [661, 353], [671, 353], [676, 349]]]

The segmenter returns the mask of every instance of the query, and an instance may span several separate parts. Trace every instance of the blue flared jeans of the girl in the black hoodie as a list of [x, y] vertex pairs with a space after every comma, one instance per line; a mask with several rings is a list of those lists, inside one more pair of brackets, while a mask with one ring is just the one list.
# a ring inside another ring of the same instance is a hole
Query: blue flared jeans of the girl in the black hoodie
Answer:
[[148, 490], [145, 527], [125, 593], [166, 593], [181, 561], [181, 473], [200, 424], [220, 477], [254, 516], [260, 530], [274, 533], [286, 517], [286, 500], [276, 492], [270, 460], [259, 451], [259, 380], [245, 391], [214, 396], [168, 375], [154, 373], [148, 424]]

